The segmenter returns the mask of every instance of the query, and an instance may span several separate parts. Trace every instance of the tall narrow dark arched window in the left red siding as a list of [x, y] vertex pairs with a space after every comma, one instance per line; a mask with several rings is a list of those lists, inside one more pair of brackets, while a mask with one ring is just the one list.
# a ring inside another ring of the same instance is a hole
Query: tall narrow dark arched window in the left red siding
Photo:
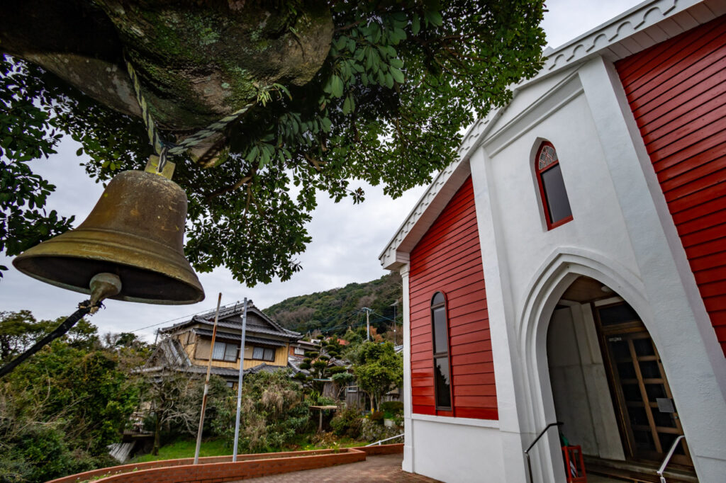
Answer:
[[433, 374], [436, 409], [451, 410], [452, 385], [449, 370], [449, 323], [446, 320], [446, 299], [436, 292], [431, 299], [431, 331], [433, 334]]

